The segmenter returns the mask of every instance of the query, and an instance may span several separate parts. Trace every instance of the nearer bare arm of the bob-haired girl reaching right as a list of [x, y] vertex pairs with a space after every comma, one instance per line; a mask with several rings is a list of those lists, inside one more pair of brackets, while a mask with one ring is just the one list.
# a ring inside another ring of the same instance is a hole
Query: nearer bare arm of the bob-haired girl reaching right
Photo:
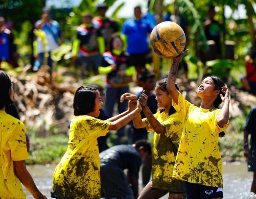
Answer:
[[132, 120], [135, 115], [137, 115], [140, 111], [142, 110], [139, 101], [137, 101], [137, 108], [135, 110], [133, 110], [132, 112], [128, 113], [127, 115], [111, 122], [111, 124], [109, 125], [108, 130], [119, 130], [120, 128], [122, 128], [124, 125], [128, 124], [128, 122], [130, 122], [130, 120]]

